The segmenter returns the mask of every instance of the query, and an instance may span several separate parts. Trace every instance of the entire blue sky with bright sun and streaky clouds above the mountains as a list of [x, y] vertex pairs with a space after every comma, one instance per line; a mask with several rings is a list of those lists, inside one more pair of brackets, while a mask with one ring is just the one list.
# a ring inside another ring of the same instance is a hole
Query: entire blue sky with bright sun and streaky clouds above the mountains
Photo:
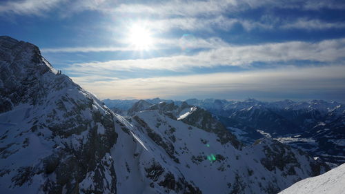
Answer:
[[344, 1], [0, 2], [0, 34], [101, 99], [345, 101]]

